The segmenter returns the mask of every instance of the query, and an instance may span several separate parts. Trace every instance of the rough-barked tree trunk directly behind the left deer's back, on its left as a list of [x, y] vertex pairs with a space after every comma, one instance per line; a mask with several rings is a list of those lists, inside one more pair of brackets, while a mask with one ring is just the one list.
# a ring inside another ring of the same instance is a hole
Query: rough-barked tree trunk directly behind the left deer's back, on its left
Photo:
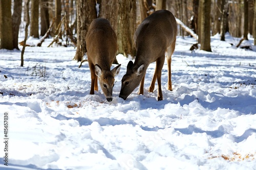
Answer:
[[82, 61], [83, 55], [86, 53], [86, 34], [90, 23], [97, 18], [95, 0], [77, 0], [77, 46], [74, 60]]

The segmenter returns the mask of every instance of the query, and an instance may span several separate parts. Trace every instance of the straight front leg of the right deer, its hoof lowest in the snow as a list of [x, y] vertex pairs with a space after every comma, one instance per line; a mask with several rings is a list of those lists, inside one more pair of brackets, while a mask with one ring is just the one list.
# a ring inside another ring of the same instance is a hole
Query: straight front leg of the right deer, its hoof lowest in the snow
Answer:
[[156, 61], [156, 77], [157, 77], [157, 84], [158, 84], [158, 94], [157, 94], [157, 100], [162, 101], [163, 100], [163, 93], [162, 93], [162, 87], [161, 87], [161, 75], [162, 75], [162, 68], [164, 64], [164, 55], [157, 59]]

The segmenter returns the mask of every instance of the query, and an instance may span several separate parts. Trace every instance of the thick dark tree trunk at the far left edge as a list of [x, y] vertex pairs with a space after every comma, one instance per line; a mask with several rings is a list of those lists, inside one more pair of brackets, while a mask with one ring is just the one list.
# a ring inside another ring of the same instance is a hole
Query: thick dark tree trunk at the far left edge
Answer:
[[0, 48], [13, 50], [11, 1], [1, 0], [1, 44]]

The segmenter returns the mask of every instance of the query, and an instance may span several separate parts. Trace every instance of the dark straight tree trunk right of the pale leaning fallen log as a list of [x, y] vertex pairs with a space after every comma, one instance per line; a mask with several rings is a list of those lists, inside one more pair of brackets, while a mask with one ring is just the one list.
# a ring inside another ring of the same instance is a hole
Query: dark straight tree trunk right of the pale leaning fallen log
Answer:
[[200, 0], [199, 6], [201, 8], [201, 48], [207, 52], [211, 52], [210, 48], [210, 6], [211, 1]]

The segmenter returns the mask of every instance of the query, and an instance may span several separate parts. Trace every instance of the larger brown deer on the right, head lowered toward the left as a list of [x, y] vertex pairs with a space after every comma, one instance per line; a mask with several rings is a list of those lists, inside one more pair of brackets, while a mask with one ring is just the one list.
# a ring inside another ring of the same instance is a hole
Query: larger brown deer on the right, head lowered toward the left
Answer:
[[167, 89], [172, 91], [170, 64], [175, 50], [177, 35], [177, 22], [174, 15], [167, 10], [155, 11], [146, 17], [135, 31], [134, 41], [136, 47], [135, 61], [129, 61], [126, 74], [122, 78], [119, 97], [126, 98], [139, 86], [138, 94], [143, 95], [144, 79], [148, 65], [156, 61], [156, 68], [148, 92], [153, 92], [155, 82], [158, 83], [157, 100], [163, 100], [161, 88], [161, 71], [167, 52]]

